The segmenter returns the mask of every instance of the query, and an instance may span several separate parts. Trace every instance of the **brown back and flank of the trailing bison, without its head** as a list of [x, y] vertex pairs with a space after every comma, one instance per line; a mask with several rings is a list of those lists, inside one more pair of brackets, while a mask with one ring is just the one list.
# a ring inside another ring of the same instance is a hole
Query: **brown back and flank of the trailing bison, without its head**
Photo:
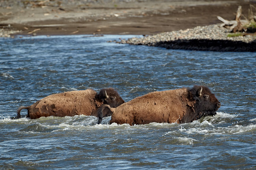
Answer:
[[95, 95], [96, 91], [92, 89], [50, 95], [30, 106], [29, 117], [37, 119], [42, 116], [89, 116], [96, 110]]

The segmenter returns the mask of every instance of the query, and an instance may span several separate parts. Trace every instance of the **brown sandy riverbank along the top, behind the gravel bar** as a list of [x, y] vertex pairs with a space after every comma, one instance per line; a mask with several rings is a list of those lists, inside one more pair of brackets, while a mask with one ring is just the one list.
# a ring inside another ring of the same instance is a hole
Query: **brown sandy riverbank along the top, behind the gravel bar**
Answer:
[[150, 35], [219, 23], [217, 15], [231, 20], [238, 5], [245, 10], [255, 3], [244, 0], [81, 0], [76, 3], [0, 0], [0, 29], [20, 30], [18, 34], [28, 35]]

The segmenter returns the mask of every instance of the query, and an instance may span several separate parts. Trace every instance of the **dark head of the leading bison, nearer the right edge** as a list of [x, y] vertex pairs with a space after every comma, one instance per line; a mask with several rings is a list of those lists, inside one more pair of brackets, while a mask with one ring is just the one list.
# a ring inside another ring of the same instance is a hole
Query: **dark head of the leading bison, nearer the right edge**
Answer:
[[203, 115], [215, 115], [216, 111], [221, 107], [221, 103], [208, 87], [194, 86], [189, 89], [189, 94], [192, 99], [197, 101], [194, 106], [197, 114], [196, 119], [199, 119]]

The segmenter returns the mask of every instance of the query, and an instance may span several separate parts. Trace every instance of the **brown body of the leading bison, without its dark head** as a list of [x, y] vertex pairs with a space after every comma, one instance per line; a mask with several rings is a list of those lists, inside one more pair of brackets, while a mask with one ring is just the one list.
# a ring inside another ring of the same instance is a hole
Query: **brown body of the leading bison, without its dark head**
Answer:
[[151, 92], [118, 106], [110, 123], [147, 124], [151, 122], [177, 122], [186, 112], [185, 88]]

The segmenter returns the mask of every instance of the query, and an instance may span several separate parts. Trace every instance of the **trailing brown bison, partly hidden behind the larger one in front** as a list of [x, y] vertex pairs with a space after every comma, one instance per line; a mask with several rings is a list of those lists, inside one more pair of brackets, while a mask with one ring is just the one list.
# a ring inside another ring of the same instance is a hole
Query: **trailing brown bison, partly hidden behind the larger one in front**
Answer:
[[[95, 115], [96, 110], [102, 104], [110, 107], [117, 107], [125, 101], [113, 88], [103, 88], [99, 93], [93, 89], [68, 91], [60, 94], [47, 96], [31, 106], [19, 107], [17, 118], [20, 118], [20, 111], [28, 109], [28, 116], [37, 119], [47, 116], [74, 116], [74, 115]], [[105, 113], [108, 116], [107, 113]]]

